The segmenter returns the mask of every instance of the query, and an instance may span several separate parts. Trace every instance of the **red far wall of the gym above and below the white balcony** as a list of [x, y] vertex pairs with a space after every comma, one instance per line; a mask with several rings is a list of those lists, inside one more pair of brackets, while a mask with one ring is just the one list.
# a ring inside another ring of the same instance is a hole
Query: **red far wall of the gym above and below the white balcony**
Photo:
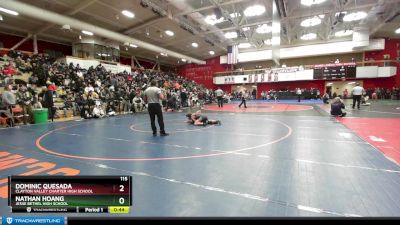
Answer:
[[[383, 60], [384, 55], [389, 54], [391, 60], [400, 60], [400, 39], [385, 39], [385, 49], [382, 51], [372, 51], [365, 53], [351, 53], [351, 54], [341, 54], [341, 55], [327, 55], [327, 56], [318, 56], [318, 57], [305, 57], [305, 58], [296, 58], [296, 59], [286, 59], [282, 60], [281, 64], [286, 64], [288, 67], [290, 66], [298, 66], [298, 65], [313, 65], [313, 64], [324, 64], [330, 63], [331, 61], [335, 61], [337, 58], [341, 62], [350, 62], [352, 58], [355, 59], [356, 62], [362, 62], [366, 60]], [[235, 66], [235, 68], [243, 68], [243, 69], [255, 69], [256, 66], [263, 67], [271, 67], [274, 65], [272, 61], [263, 61], [263, 62], [249, 62], [242, 63]], [[185, 65], [181, 67], [178, 71], [189, 78], [194, 78], [196, 82], [203, 83], [207, 87], [214, 87], [212, 84], [212, 79], [209, 78], [210, 71], [211, 72], [222, 72], [227, 71], [230, 65], [221, 65], [219, 63], [218, 57], [214, 58], [212, 61], [207, 61], [206, 65]], [[383, 66], [383, 65], [381, 65]], [[393, 86], [400, 87], [400, 66], [397, 63], [397, 75], [390, 78], [372, 78], [372, 79], [363, 79], [363, 83], [365, 88], [375, 88], [375, 87], [383, 87], [383, 88], [392, 88]], [[262, 83], [258, 84], [258, 94], [261, 91], [267, 91], [270, 89], [281, 89], [281, 88], [318, 88], [321, 93], [325, 91], [325, 81], [297, 81], [297, 82], [280, 82], [280, 83]], [[220, 85], [224, 91], [231, 91], [232, 85]]]

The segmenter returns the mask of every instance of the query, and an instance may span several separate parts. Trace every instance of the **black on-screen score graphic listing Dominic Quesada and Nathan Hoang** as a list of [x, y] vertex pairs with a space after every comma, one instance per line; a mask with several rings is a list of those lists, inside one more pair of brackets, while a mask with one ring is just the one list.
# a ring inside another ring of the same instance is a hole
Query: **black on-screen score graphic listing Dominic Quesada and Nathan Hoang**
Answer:
[[13, 213], [128, 213], [131, 176], [9, 176]]

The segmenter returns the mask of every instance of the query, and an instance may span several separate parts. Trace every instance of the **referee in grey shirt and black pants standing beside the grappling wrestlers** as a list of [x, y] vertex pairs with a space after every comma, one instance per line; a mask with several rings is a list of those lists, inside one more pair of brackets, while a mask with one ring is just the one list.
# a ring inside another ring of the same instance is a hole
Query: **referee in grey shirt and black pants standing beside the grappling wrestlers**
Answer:
[[160, 136], [168, 136], [164, 129], [164, 119], [162, 115], [160, 100], [164, 100], [165, 97], [161, 93], [161, 89], [156, 87], [157, 81], [152, 80], [150, 87], [144, 91], [144, 101], [148, 104], [148, 111], [150, 115], [151, 129], [153, 129], [153, 136], [157, 136], [156, 127], [156, 115], [158, 119], [158, 125], [160, 126]]

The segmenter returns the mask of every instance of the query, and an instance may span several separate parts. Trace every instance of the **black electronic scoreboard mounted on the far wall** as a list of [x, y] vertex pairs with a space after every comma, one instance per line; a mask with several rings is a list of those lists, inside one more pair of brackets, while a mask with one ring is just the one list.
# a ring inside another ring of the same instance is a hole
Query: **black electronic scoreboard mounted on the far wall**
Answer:
[[356, 77], [356, 63], [331, 63], [314, 66], [314, 80], [334, 80]]

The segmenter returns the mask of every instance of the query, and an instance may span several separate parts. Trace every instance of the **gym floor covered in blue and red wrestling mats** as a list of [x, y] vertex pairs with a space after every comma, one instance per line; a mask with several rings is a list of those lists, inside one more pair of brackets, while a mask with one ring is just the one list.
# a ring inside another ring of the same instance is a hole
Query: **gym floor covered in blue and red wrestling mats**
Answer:
[[133, 176], [129, 216], [400, 216], [400, 101], [237, 105], [164, 113], [168, 137], [147, 113], [1, 129], [0, 212], [8, 175], [57, 174]]

